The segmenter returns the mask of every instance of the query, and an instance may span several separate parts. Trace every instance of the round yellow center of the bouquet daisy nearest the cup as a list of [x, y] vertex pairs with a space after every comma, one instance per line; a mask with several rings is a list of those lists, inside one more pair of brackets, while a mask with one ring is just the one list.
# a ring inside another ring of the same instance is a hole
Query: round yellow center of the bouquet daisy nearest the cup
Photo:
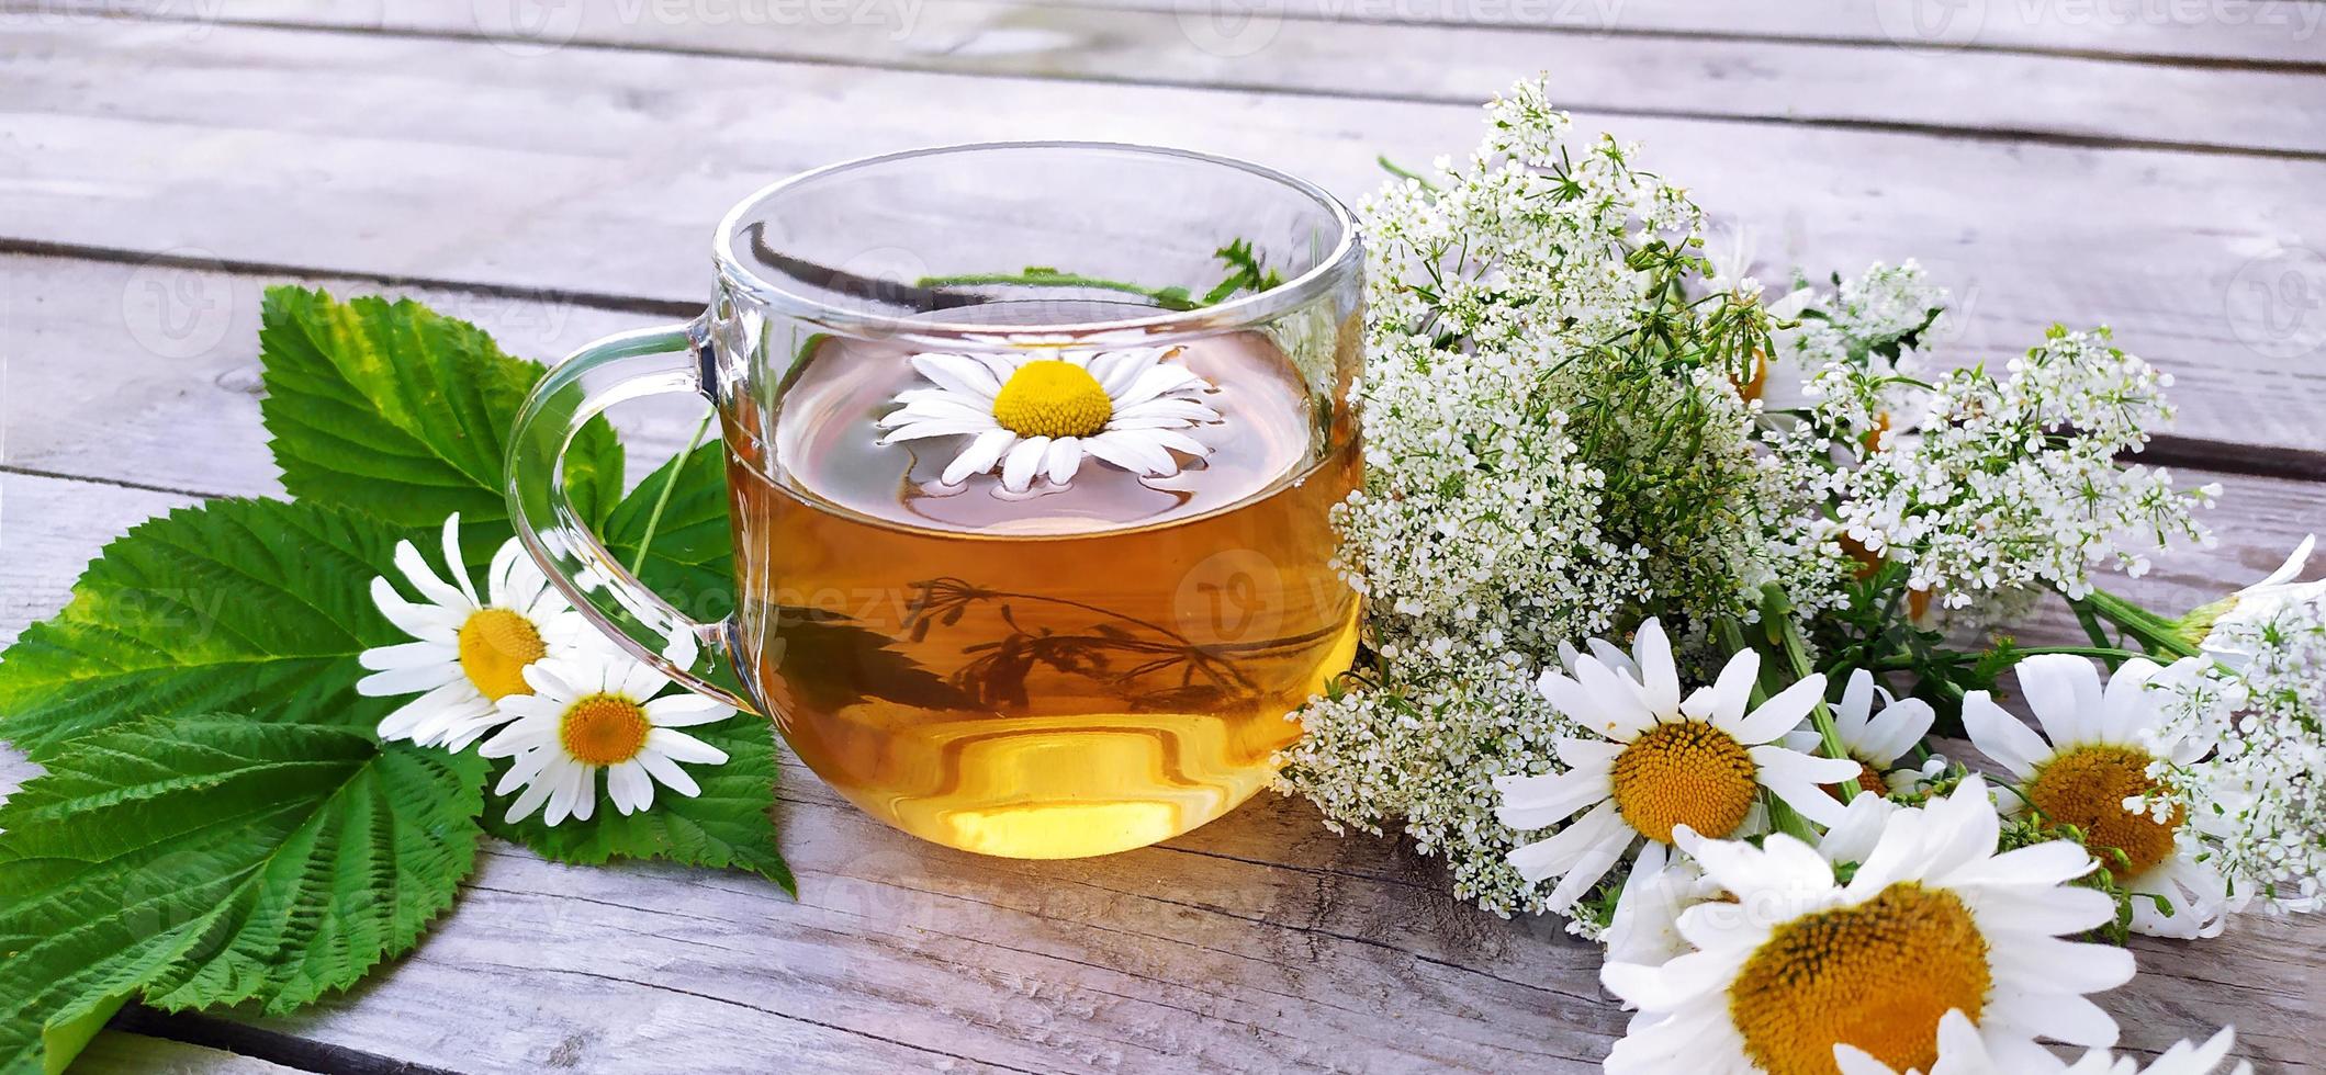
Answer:
[[1751, 754], [1710, 724], [1658, 724], [1614, 756], [1614, 805], [1642, 835], [1672, 842], [1672, 826], [1719, 840], [1751, 810]]

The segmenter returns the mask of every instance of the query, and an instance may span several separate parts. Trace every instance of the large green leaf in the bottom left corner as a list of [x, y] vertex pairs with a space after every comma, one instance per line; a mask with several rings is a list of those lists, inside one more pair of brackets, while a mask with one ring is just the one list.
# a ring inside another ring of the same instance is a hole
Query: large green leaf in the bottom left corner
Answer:
[[0, 805], [0, 1070], [130, 996], [288, 1012], [419, 942], [475, 866], [484, 763], [335, 721], [156, 717]]

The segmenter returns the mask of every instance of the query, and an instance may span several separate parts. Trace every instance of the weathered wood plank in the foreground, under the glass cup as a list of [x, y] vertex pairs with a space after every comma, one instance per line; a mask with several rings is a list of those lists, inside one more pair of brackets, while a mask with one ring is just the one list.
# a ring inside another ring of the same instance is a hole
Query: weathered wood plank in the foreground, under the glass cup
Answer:
[[[2263, 570], [2298, 528], [2282, 507], [2317, 503], [2314, 486], [2224, 482], [2252, 514], [2224, 519], [2231, 540], [2191, 554], [2191, 577]], [[12, 526], [49, 531], [9, 558], [12, 591], [72, 572], [114, 533], [100, 519], [156, 498], [0, 484], [30, 507]], [[2126, 591], [2156, 600], [2152, 586], [2196, 591], [2170, 575]], [[5, 626], [21, 628], [16, 603]], [[705, 1049], [905, 1068], [1586, 1070], [1621, 1033], [1589, 945], [1456, 905], [1407, 847], [1333, 838], [1300, 803], [1263, 796], [1165, 847], [1068, 863], [923, 845], [798, 766], [782, 803], [798, 903], [735, 875], [572, 870], [495, 845], [414, 956], [258, 1026], [456, 1070], [668, 1070]], [[2235, 1021], [2279, 1070], [2319, 1061], [2319, 921], [2242, 919], [2140, 954], [2142, 977], [2105, 998], [2131, 1045]]]

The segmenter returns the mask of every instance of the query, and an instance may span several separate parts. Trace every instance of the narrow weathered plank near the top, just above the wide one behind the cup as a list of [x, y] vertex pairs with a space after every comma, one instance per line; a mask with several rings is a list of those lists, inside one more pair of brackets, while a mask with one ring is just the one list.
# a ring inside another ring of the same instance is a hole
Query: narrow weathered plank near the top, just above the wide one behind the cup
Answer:
[[[207, 23], [488, 37], [512, 49], [612, 44], [958, 74], [1340, 93], [1470, 105], [1524, 72], [1579, 112], [1961, 130], [2268, 154], [2326, 154], [2319, 72], [2170, 67], [2017, 51], [1868, 49], [1698, 35], [1579, 35], [1500, 26], [1226, 19], [1200, 7], [1023, 0], [856, 0], [828, 9], [528, 0], [74, 0]], [[1463, 63], [1444, 63], [1461, 56]], [[1644, 72], [1654, 72], [1647, 77]], [[2126, 100], [2142, 107], [2126, 109]]]

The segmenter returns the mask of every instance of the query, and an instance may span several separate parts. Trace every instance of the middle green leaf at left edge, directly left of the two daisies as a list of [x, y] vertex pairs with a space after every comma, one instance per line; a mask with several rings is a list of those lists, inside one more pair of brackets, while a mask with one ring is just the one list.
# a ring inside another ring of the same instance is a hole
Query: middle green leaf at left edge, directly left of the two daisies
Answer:
[[400, 531], [354, 512], [212, 500], [116, 538], [72, 603], [0, 654], [0, 740], [47, 763], [77, 735], [244, 712], [370, 733], [356, 654], [405, 642], [372, 605]]

